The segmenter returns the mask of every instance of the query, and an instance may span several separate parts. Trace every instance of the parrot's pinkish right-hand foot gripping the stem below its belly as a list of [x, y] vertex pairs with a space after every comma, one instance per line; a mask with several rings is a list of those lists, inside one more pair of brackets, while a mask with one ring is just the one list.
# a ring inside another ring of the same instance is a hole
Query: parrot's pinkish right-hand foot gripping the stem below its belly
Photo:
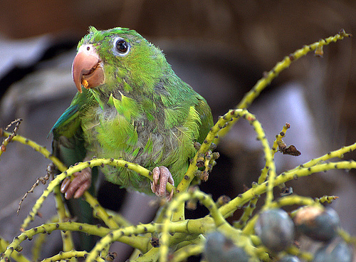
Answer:
[[[167, 182], [174, 185], [174, 180], [171, 172], [167, 169], [167, 167], [155, 167], [152, 170], [153, 173], [153, 182], [151, 182], [152, 192], [156, 194], [156, 196], [165, 196], [166, 195], [166, 186]], [[158, 184], [159, 182], [159, 184]], [[173, 192], [173, 190], [172, 190]], [[172, 192], [168, 196], [169, 199], [172, 199]]]

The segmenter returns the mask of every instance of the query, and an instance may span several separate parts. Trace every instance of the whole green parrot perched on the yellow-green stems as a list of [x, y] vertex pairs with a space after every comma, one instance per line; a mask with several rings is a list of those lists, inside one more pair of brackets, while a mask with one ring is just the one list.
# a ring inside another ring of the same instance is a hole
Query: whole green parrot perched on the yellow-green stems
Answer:
[[[98, 158], [120, 158], [152, 170], [153, 182], [125, 168], [101, 167], [113, 184], [164, 196], [178, 184], [213, 125], [206, 100], [184, 83], [159, 48], [128, 28], [89, 33], [78, 44], [72, 66], [78, 88], [52, 127], [53, 154], [67, 166]], [[92, 184], [92, 170], [65, 179], [66, 199]]]

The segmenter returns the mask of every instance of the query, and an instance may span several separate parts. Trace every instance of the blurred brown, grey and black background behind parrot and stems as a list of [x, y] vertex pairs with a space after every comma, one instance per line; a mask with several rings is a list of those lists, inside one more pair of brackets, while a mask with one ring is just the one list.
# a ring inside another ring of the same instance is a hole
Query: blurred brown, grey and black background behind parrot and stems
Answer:
[[[129, 27], [159, 46], [177, 75], [206, 98], [214, 120], [234, 108], [263, 71], [271, 70], [284, 56], [341, 28], [356, 34], [356, 2], [351, 0], [5, 0], [0, 10], [0, 126], [21, 117], [19, 134], [48, 148], [48, 132], [76, 92], [70, 66], [88, 26]], [[323, 58], [310, 53], [273, 80], [249, 108], [270, 144], [286, 122], [291, 125], [284, 141], [302, 154], [276, 154], [278, 172], [356, 141], [355, 57], [354, 38], [326, 46]], [[244, 185], [251, 187], [263, 167], [255, 137], [253, 129], [239, 121], [218, 146], [221, 158], [208, 182], [201, 184], [204, 192], [214, 199], [221, 194], [233, 198], [244, 192]], [[356, 154], [345, 154], [345, 159], [351, 158], [356, 159]], [[19, 225], [43, 186], [28, 196], [16, 216], [19, 199], [36, 177], [46, 174], [47, 164], [41, 154], [17, 143], [1, 156], [0, 235], [8, 241], [19, 234]], [[300, 195], [340, 196], [332, 206], [342, 226], [356, 234], [354, 170], [315, 174], [287, 185]], [[117, 187], [105, 184], [98, 198], [108, 208], [120, 209], [133, 223], [152, 219], [152, 211], [143, 211], [151, 198], [117, 192]], [[112, 201], [102, 200], [108, 197]], [[45, 203], [43, 218], [32, 225], [55, 214], [53, 199]], [[204, 215], [201, 212], [187, 211], [187, 216]], [[239, 219], [239, 212], [234, 219]], [[24, 250], [27, 244], [23, 243]], [[43, 256], [56, 248], [46, 248]], [[125, 261], [124, 256], [117, 261]]]

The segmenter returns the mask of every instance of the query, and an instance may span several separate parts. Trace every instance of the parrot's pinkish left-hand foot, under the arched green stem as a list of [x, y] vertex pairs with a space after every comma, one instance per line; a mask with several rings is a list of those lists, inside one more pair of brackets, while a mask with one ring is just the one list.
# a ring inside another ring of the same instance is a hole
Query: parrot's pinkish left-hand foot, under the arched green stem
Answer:
[[70, 177], [66, 177], [61, 185], [61, 192], [67, 200], [72, 197], [78, 199], [83, 196], [91, 184], [91, 169], [89, 167], [81, 172], [75, 172], [73, 175], [75, 178], [72, 181], [70, 181]]

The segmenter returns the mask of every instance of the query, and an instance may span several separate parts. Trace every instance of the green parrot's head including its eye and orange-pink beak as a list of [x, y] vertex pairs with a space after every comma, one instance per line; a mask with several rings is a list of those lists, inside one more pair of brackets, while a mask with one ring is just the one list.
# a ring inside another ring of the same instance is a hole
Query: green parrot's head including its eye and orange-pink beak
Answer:
[[97, 88], [124, 79], [150, 88], [161, 76], [157, 68], [165, 62], [162, 52], [134, 30], [117, 27], [98, 31], [91, 26], [78, 44], [72, 75], [79, 93], [82, 86]]

